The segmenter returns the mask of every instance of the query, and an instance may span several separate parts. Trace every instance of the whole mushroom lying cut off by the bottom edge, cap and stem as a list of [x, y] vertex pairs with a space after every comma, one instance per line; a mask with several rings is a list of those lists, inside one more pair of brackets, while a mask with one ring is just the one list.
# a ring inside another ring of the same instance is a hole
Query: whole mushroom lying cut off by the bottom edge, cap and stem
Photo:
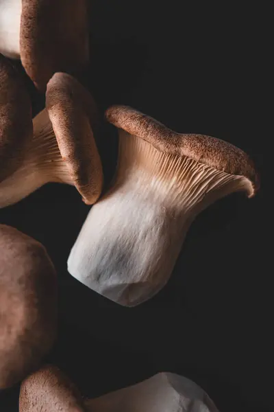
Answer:
[[45, 365], [21, 385], [19, 412], [218, 412], [214, 402], [195, 382], [160, 373], [90, 400], [60, 369]]

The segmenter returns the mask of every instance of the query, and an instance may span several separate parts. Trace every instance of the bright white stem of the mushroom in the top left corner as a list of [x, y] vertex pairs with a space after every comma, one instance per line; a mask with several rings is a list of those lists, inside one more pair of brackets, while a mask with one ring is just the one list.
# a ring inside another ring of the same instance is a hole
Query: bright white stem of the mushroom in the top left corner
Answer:
[[0, 0], [0, 53], [20, 58], [22, 0]]

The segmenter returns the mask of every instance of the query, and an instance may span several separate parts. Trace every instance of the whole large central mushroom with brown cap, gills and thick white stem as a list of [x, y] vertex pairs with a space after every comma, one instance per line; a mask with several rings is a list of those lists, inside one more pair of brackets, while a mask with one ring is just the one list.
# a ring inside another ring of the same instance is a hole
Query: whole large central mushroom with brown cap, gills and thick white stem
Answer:
[[127, 106], [106, 111], [119, 129], [114, 183], [92, 207], [73, 245], [73, 277], [124, 306], [166, 284], [192, 220], [232, 192], [258, 190], [242, 150], [204, 135], [181, 135]]

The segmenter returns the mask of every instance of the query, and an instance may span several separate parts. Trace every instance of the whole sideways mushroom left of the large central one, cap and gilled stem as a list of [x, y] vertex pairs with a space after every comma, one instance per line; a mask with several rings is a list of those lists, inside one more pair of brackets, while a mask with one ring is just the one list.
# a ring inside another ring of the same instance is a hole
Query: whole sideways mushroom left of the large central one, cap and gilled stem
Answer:
[[103, 185], [101, 159], [93, 135], [97, 113], [90, 93], [77, 80], [66, 73], [53, 75], [47, 85], [46, 108], [33, 121], [33, 137], [19, 147], [12, 134], [9, 112], [5, 114], [8, 126], [3, 138], [8, 141], [11, 137], [10, 161], [21, 159], [21, 165], [0, 181], [0, 207], [20, 201], [48, 182], [75, 185], [86, 204], [97, 201]]

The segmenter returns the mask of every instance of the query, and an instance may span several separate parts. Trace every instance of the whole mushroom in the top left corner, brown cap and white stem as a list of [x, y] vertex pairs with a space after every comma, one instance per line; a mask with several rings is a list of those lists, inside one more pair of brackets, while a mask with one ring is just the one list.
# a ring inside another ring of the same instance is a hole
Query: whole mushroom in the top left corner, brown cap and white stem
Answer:
[[0, 52], [21, 59], [40, 91], [86, 65], [88, 38], [86, 0], [0, 0]]

